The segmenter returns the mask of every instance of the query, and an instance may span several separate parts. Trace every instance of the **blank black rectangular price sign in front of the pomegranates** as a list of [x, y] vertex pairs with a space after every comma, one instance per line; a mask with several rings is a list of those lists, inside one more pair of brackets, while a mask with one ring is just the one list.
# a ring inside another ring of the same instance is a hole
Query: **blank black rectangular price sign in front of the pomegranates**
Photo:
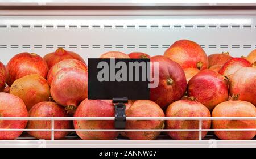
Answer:
[[149, 99], [150, 59], [88, 59], [88, 99]]

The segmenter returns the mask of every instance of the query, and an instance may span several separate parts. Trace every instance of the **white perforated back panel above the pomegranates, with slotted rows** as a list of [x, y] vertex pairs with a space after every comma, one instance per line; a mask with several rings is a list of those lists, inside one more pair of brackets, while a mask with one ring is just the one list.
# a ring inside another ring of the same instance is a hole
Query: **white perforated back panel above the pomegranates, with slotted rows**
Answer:
[[207, 54], [240, 57], [256, 48], [256, 16], [0, 16], [0, 59], [28, 51], [45, 55], [57, 47], [84, 59], [106, 51], [163, 55], [176, 40], [189, 39]]

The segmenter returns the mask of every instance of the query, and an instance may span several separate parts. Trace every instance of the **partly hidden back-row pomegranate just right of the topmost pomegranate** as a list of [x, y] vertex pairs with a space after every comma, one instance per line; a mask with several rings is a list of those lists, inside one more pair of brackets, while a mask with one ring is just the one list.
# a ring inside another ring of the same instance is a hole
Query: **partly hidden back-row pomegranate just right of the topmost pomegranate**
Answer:
[[229, 55], [229, 52], [222, 52], [221, 54], [211, 54], [208, 56], [209, 60], [209, 67], [212, 67], [214, 65], [224, 65], [226, 61], [233, 58]]

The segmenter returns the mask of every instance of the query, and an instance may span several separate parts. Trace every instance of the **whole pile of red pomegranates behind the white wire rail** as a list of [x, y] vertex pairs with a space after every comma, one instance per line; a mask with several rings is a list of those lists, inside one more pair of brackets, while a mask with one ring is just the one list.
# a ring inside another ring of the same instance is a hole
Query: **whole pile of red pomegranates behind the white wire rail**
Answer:
[[[127, 117], [256, 117], [256, 50], [246, 57], [233, 57], [228, 52], [207, 56], [196, 42], [178, 40], [161, 55], [109, 51], [96, 58], [147, 58], [151, 62], [151, 77], [159, 76], [158, 85], [150, 88], [148, 100], [129, 99], [125, 104]], [[158, 70], [154, 69], [156, 63]], [[59, 48], [43, 58], [24, 52], [11, 57], [5, 64], [0, 62], [0, 117], [115, 116], [112, 100], [88, 99], [88, 66], [75, 52]], [[51, 121], [0, 120], [0, 128], [51, 127]], [[164, 128], [172, 129], [165, 135], [174, 140], [199, 140], [200, 136], [199, 131], [193, 131], [200, 128], [197, 119], [126, 121], [126, 129], [147, 129], [139, 132], [104, 131], [115, 128], [113, 120], [57, 120], [54, 128], [65, 129], [54, 133], [55, 140], [63, 139], [70, 133], [67, 129], [72, 128], [82, 140], [115, 140], [119, 135], [130, 140], [155, 140], [160, 134], [164, 135], [156, 130]], [[205, 119], [201, 128], [256, 128], [256, 120]], [[52, 137], [51, 131], [27, 133], [36, 139], [51, 140]], [[22, 131], [0, 131], [0, 140], [14, 140], [21, 134]], [[201, 137], [207, 134], [202, 131]], [[218, 130], [214, 134], [221, 140], [250, 140], [256, 131]]]

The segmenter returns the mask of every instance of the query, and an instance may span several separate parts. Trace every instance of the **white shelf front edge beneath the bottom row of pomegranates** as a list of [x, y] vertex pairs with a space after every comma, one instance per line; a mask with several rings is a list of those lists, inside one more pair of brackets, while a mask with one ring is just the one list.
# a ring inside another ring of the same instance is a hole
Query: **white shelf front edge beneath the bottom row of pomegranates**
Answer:
[[171, 140], [166, 135], [160, 135], [157, 140], [128, 140], [118, 137], [117, 140], [81, 140], [69, 136], [63, 140], [36, 140], [33, 137], [19, 137], [18, 140], [0, 140], [1, 147], [32, 147], [32, 148], [225, 148], [244, 147], [256, 148], [253, 140], [218, 140], [213, 135], [207, 135], [204, 140]]

